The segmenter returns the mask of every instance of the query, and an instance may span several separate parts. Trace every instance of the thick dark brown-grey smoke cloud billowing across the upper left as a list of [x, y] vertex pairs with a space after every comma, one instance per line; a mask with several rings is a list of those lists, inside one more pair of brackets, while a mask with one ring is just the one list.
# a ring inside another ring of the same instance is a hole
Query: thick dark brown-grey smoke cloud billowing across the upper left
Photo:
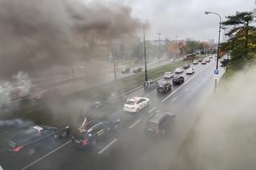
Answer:
[[130, 8], [80, 0], [0, 0], [0, 73], [95, 57], [99, 42], [133, 34]]

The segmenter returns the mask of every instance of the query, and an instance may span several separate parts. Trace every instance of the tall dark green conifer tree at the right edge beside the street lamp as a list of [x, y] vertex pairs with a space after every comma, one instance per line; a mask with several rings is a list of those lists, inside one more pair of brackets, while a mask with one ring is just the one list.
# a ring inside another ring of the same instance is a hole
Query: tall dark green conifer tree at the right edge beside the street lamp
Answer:
[[250, 24], [254, 22], [254, 13], [236, 12], [234, 15], [226, 17], [222, 26], [229, 28], [226, 34], [230, 39], [221, 44], [222, 51], [230, 51], [231, 66], [242, 69], [243, 66], [250, 62], [255, 53], [256, 30]]

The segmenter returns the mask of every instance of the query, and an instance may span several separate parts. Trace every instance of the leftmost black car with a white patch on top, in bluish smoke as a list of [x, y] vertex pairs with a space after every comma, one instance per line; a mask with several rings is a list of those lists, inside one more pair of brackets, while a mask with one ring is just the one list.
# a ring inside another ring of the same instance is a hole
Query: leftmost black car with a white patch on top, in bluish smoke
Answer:
[[14, 154], [33, 155], [39, 148], [46, 148], [50, 142], [69, 135], [69, 126], [34, 125], [21, 129], [9, 140], [8, 150]]

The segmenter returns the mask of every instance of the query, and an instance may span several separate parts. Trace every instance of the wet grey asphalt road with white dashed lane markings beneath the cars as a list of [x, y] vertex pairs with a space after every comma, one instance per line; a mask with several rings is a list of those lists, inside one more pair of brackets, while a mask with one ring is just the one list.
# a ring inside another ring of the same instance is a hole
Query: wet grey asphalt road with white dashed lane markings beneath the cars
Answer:
[[[206, 65], [192, 65], [195, 73], [185, 75], [182, 85], [173, 86], [170, 93], [159, 95], [156, 90], [138, 89], [126, 97], [148, 97], [150, 105], [138, 115], [124, 113], [122, 101], [117, 102], [110, 119], [120, 119], [122, 127], [96, 147], [83, 151], [73, 147], [70, 139], [47, 144], [34, 156], [10, 156], [1, 153], [4, 169], [166, 169], [205, 105], [214, 92], [214, 58]], [[220, 73], [224, 71], [220, 68]], [[159, 80], [162, 81], [162, 80]], [[176, 114], [174, 128], [163, 138], [146, 136], [147, 119], [155, 110]]]

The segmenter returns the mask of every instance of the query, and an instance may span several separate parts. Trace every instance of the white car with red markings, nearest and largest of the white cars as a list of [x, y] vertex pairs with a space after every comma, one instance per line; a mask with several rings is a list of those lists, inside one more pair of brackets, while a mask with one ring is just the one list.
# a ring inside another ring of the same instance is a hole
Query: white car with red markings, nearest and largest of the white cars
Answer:
[[146, 107], [150, 102], [150, 99], [146, 97], [132, 97], [127, 99], [126, 104], [123, 106], [123, 110], [130, 113], [138, 113], [141, 109]]

